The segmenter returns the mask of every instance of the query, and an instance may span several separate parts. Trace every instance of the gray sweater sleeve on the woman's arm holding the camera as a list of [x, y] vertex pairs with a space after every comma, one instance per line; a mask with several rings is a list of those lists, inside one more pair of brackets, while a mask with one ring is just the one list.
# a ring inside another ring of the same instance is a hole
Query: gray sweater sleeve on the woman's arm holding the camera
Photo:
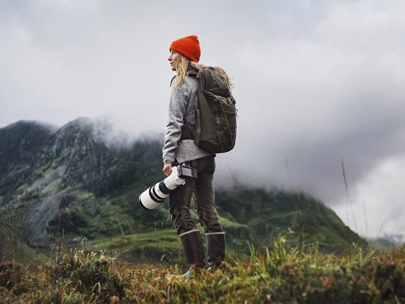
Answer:
[[169, 100], [168, 118], [163, 146], [163, 162], [173, 164], [187, 105], [185, 84], [172, 89]]

